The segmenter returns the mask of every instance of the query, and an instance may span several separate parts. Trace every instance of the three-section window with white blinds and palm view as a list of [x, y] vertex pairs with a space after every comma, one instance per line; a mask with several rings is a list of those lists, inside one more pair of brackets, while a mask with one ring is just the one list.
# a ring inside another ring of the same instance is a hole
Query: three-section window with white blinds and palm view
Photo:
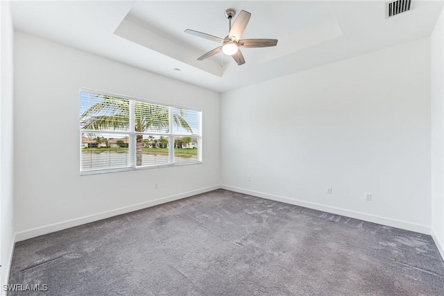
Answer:
[[80, 172], [200, 163], [201, 112], [80, 90]]

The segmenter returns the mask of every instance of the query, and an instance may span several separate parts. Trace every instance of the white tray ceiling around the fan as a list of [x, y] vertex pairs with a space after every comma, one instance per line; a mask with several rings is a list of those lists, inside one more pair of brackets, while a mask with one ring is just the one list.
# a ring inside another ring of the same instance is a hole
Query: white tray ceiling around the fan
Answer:
[[[13, 1], [11, 7], [18, 31], [226, 92], [427, 37], [443, 7], [416, 0], [411, 11], [386, 19], [385, 2]], [[241, 66], [223, 54], [196, 60], [219, 44], [185, 29], [224, 38], [227, 8], [252, 14], [242, 38], [278, 39], [278, 46], [242, 49]]]

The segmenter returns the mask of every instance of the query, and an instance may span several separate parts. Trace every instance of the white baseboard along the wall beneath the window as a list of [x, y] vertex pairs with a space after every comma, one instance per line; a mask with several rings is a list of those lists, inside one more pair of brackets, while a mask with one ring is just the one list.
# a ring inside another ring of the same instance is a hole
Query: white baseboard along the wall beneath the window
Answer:
[[219, 185], [200, 188], [198, 190], [183, 192], [178, 195], [171, 195], [169, 197], [162, 197], [160, 199], [151, 200], [149, 202], [142, 202], [140, 204], [134, 204], [132, 206], [125, 206], [123, 208], [117, 208], [117, 209], [111, 210], [111, 211], [106, 211], [106, 212], [97, 213], [94, 215], [88, 215], [85, 217], [80, 217], [80, 218], [76, 218], [76, 219], [72, 219], [72, 220], [67, 220], [67, 221], [63, 221], [63, 222], [45, 225], [42, 227], [28, 229], [25, 231], [20, 231], [20, 232], [15, 233], [15, 241], [19, 242], [21, 240], [27, 240], [28, 238], [35, 238], [36, 236], [42, 236], [47, 233], [60, 231], [60, 230], [68, 229], [71, 227], [76, 227], [76, 226], [79, 226], [82, 224], [87, 224], [90, 222], [106, 219], [109, 217], [114, 217], [114, 216], [125, 214], [125, 213], [130, 213], [130, 212], [137, 211], [137, 210], [142, 210], [143, 208], [149, 208], [151, 206], [157, 206], [159, 204], [165, 204], [167, 202], [173, 202], [177, 199], [191, 197], [193, 195], [198, 195], [200, 193], [209, 192], [209, 191], [216, 190], [219, 188], [221, 188], [221, 186], [219, 186]]

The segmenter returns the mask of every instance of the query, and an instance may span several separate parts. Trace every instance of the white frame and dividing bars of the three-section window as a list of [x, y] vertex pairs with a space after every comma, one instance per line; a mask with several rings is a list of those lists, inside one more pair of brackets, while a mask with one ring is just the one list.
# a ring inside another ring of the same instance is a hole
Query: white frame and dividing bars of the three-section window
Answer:
[[[88, 92], [90, 94], [96, 94], [96, 95], [103, 95], [108, 97], [115, 97], [117, 99], [127, 99], [130, 104], [130, 128], [128, 131], [108, 131], [108, 130], [91, 130], [91, 129], [82, 129], [80, 120], [78, 122], [78, 131], [79, 131], [79, 170], [80, 175], [89, 175], [89, 174], [108, 174], [112, 172], [127, 172], [127, 171], [137, 171], [137, 170], [151, 170], [161, 167], [180, 167], [183, 165], [199, 165], [203, 163], [203, 153], [202, 153], [202, 147], [203, 147], [203, 124], [202, 124], [202, 110], [196, 109], [196, 108], [189, 108], [185, 106], [178, 106], [176, 104], [166, 104], [164, 102], [160, 101], [152, 101], [148, 99], [141, 99], [139, 97], [132, 97], [124, 94], [116, 94], [113, 92], [104, 92], [102, 90], [93, 90], [90, 88], [80, 88], [78, 91], [78, 102], [79, 102], [79, 108], [80, 110], [80, 92]], [[135, 101], [139, 101], [142, 103], [148, 103], [148, 104], [156, 104], [160, 106], [168, 107], [169, 109], [169, 131], [168, 132], [162, 132], [162, 131], [135, 131]], [[173, 110], [174, 108], [180, 108], [183, 110], [191, 110], [196, 111], [198, 113], [198, 133], [192, 134], [192, 133], [178, 133], [174, 132], [173, 129]], [[123, 166], [123, 167], [112, 167], [112, 168], [99, 168], [99, 169], [92, 169], [92, 170], [83, 170], [82, 168], [82, 135], [84, 133], [102, 133], [102, 134], [116, 134], [116, 135], [128, 135], [128, 158], [129, 158], [129, 165]], [[168, 138], [169, 140], [169, 157], [168, 157], [168, 163], [162, 163], [162, 164], [155, 164], [155, 165], [139, 165], [136, 164], [136, 136], [137, 135], [163, 135], [165, 138]], [[174, 162], [174, 138], [177, 136], [189, 136], [197, 138], [197, 161], [193, 162]]]

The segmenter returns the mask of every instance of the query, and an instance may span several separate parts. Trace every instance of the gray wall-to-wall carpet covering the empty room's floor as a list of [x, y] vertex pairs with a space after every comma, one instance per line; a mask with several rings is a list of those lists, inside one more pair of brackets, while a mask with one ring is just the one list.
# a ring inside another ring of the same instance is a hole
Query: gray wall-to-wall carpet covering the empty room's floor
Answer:
[[444, 295], [430, 236], [226, 190], [18, 242], [8, 295]]

